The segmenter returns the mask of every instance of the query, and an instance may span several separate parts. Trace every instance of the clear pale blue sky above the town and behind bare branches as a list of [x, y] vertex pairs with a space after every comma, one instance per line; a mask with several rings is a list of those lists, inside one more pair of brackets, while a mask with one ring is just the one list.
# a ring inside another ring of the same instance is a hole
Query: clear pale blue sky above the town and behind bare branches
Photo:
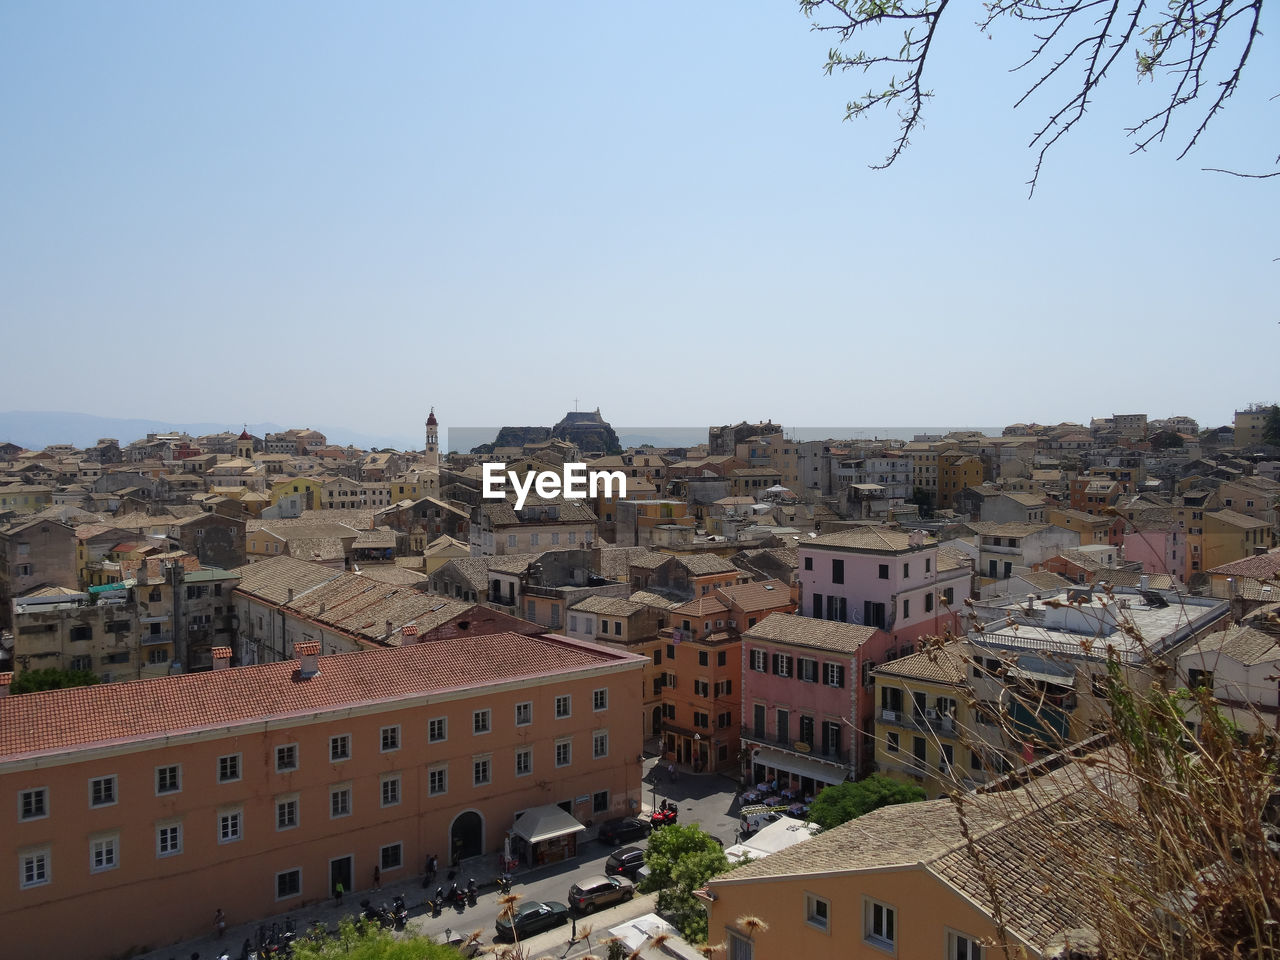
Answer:
[[1274, 42], [1180, 163], [1129, 156], [1158, 90], [1125, 61], [1028, 200], [1025, 35], [956, 10], [927, 127], [872, 172], [892, 115], [842, 122], [868, 81], [824, 78], [787, 0], [4, 4], [0, 410], [416, 438], [431, 403], [1217, 425], [1274, 399], [1280, 178], [1201, 172], [1275, 169]]

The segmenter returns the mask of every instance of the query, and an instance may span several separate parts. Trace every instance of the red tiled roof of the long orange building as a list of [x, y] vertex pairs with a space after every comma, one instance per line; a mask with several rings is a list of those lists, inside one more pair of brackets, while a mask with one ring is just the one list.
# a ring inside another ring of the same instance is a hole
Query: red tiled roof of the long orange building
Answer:
[[390, 650], [320, 658], [298, 677], [297, 660], [0, 699], [0, 760], [91, 745], [147, 741], [428, 692], [575, 673], [644, 658], [557, 636], [492, 634]]

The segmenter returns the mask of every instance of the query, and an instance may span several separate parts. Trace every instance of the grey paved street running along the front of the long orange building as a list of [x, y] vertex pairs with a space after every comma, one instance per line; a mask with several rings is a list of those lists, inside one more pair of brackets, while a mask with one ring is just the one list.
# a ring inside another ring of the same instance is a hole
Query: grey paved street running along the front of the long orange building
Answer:
[[[681, 823], [698, 823], [708, 833], [718, 837], [726, 846], [735, 842], [739, 819], [735, 801], [736, 783], [732, 780], [718, 774], [695, 776], [686, 771], [672, 781], [667, 777], [666, 769], [658, 767], [653, 759], [645, 760], [644, 768], [645, 791], [643, 803], [646, 813], [648, 808], [652, 808], [655, 801], [672, 800], [680, 805]], [[586, 836], [594, 836], [594, 833], [595, 831], [591, 829]], [[641, 841], [637, 846], [644, 846], [644, 842]], [[598, 840], [586, 840], [580, 842], [579, 851], [579, 856], [568, 863], [518, 872], [512, 883], [512, 893], [520, 893], [526, 900], [558, 900], [566, 902], [568, 888], [575, 882], [584, 877], [604, 872], [604, 861], [613, 851], [613, 847]], [[492, 879], [494, 872], [492, 855], [476, 858], [475, 861], [463, 864], [458, 876], [458, 879], [463, 883], [471, 876], [467, 872], [468, 865], [470, 869], [476, 870], [475, 876], [481, 883]], [[442, 870], [438, 882], [443, 882], [445, 888], [448, 888], [445, 876], [447, 870]], [[334, 905], [332, 900], [328, 900], [312, 904], [308, 908], [289, 914], [289, 916], [297, 922], [300, 931], [305, 931], [316, 923], [333, 928], [337, 927], [340, 916], [358, 913], [361, 900], [367, 897], [375, 904], [384, 901], [390, 904], [396, 893], [402, 893], [410, 908], [410, 929], [415, 933], [425, 933], [430, 937], [444, 940], [445, 931], [467, 936], [472, 931], [479, 929], [481, 931], [480, 942], [483, 945], [492, 945], [494, 942], [494, 924], [500, 908], [495, 888], [485, 886], [483, 890], [484, 892], [475, 906], [465, 910], [447, 909], [439, 916], [430, 916], [424, 910], [422, 902], [429, 893], [434, 895], [434, 884], [430, 891], [422, 890], [421, 876], [419, 876], [401, 883], [388, 883], [378, 892], [353, 891], [347, 895], [340, 908]], [[639, 909], [645, 904], [649, 904], [649, 906]], [[637, 896], [630, 905], [594, 915], [590, 923], [599, 931], [604, 929], [604, 923], [617, 925], [623, 919], [637, 916], [649, 910], [652, 910], [652, 899]], [[614, 919], [614, 916], [618, 919]], [[283, 923], [284, 915], [268, 919], [266, 925], [270, 927], [273, 920]], [[198, 952], [204, 960], [210, 960], [211, 957], [218, 957], [223, 951], [227, 951], [232, 957], [238, 957], [243, 941], [246, 938], [255, 938], [256, 932], [256, 923], [228, 927], [227, 934], [221, 941], [215, 941], [212, 937], [204, 937], [154, 950], [140, 960], [170, 960], [170, 957], [186, 960], [193, 952]], [[563, 948], [568, 940], [568, 928], [541, 934], [538, 938], [540, 950], [545, 950], [540, 943], [543, 937], [552, 937]], [[575, 951], [579, 950], [580, 952], [588, 952], [586, 945], [575, 947]], [[556, 951], [556, 956], [559, 956], [561, 952], [561, 950]], [[576, 955], [579, 952], [568, 954], [571, 957]]]

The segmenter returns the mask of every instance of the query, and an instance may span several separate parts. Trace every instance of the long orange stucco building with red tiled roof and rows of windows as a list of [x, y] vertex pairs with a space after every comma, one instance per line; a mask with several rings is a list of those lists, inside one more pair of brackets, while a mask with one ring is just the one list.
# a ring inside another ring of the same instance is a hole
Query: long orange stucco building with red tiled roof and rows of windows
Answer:
[[[5, 954], [119, 956], [640, 800], [646, 658], [518, 634], [0, 699]], [[3, 685], [0, 694], [8, 691]], [[70, 922], [74, 918], [74, 922]]]

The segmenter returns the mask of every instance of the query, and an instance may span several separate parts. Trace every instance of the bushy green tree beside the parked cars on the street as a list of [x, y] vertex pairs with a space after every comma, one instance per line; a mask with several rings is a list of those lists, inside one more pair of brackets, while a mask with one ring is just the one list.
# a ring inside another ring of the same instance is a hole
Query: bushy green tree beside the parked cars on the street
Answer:
[[728, 869], [721, 845], [694, 824], [672, 823], [653, 832], [644, 860], [650, 873], [640, 890], [659, 891], [659, 913], [690, 943], [705, 943], [707, 911], [694, 891]]

